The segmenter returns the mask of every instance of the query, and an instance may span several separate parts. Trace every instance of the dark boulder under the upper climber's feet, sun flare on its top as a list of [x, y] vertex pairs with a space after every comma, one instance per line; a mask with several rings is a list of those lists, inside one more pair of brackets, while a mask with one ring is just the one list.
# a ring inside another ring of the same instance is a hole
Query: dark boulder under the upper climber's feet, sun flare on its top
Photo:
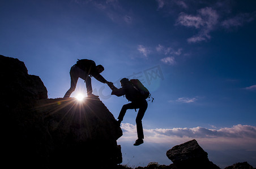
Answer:
[[39, 100], [35, 112], [44, 118], [51, 137], [54, 150], [49, 160], [54, 168], [106, 168], [122, 163], [121, 146], [116, 141], [122, 130], [98, 98]]

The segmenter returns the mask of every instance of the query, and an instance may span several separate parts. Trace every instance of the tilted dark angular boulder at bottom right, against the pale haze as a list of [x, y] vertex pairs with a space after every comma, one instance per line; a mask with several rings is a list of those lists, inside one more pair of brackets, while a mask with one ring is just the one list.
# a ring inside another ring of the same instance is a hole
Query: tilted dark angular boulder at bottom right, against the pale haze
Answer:
[[167, 157], [177, 168], [212, 168], [219, 169], [208, 159], [208, 154], [197, 143], [196, 140], [187, 141], [176, 145], [167, 151]]

